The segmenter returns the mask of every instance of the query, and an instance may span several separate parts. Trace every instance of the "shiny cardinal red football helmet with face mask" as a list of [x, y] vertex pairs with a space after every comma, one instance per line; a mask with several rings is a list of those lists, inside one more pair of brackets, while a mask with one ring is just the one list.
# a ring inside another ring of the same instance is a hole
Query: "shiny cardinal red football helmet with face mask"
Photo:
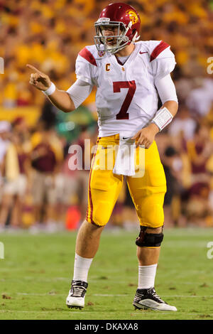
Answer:
[[[131, 42], [137, 41], [140, 31], [141, 20], [133, 7], [118, 2], [116, 4], [109, 4], [103, 9], [99, 19], [94, 23], [96, 36], [94, 36], [94, 43], [99, 53], [109, 51], [116, 53]], [[103, 31], [106, 29], [114, 31], [117, 34], [111, 36], [104, 36]], [[109, 41], [116, 41], [110, 45]], [[108, 42], [108, 43], [107, 43]]]

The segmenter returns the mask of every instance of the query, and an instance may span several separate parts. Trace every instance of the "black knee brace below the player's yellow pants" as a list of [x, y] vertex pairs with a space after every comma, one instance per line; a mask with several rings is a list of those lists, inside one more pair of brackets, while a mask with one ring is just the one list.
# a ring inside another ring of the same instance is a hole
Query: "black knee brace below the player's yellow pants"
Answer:
[[141, 226], [136, 245], [138, 247], [160, 247], [163, 241], [163, 233], [146, 233], [147, 228], [146, 226]]

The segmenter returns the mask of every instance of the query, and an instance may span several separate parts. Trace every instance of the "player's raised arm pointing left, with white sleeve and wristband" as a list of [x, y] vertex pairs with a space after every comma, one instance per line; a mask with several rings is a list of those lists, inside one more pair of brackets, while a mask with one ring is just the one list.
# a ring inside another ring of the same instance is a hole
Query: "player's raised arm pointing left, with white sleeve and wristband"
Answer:
[[92, 85], [80, 79], [77, 79], [67, 92], [58, 90], [48, 75], [40, 72], [40, 70], [37, 70], [32, 65], [27, 65], [27, 67], [34, 71], [30, 77], [31, 85], [43, 91], [50, 102], [63, 112], [72, 112], [75, 110], [87, 99], [92, 91]]

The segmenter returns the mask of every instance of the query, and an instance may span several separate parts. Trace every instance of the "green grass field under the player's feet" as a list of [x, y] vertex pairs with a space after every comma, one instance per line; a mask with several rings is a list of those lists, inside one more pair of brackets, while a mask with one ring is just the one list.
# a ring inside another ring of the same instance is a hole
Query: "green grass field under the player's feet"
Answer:
[[132, 306], [138, 281], [137, 232], [105, 230], [89, 272], [86, 306], [70, 310], [76, 233], [0, 235], [0, 319], [213, 319], [213, 230], [165, 230], [155, 289], [177, 312]]

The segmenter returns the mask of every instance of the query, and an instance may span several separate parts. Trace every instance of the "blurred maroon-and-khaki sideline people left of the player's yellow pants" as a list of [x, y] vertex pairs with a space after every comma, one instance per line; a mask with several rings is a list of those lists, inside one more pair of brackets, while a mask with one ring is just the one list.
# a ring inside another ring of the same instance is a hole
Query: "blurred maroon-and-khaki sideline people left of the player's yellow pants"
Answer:
[[[81, 126], [72, 145], [79, 146], [84, 157], [84, 139], [89, 138], [91, 159], [96, 137], [96, 131]], [[76, 151], [69, 150], [70, 144], [42, 119], [35, 128], [23, 117], [12, 124], [0, 122], [1, 230], [8, 225], [12, 230], [75, 230], [84, 220], [89, 170], [84, 165], [76, 169]]]

